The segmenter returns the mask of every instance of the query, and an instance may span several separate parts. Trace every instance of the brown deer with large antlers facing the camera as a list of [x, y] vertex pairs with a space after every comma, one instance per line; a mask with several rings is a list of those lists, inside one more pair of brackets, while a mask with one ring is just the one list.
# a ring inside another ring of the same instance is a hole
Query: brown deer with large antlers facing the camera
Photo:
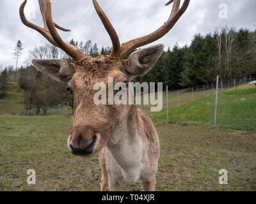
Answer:
[[[108, 78], [114, 83], [127, 84], [135, 77], [146, 75], [161, 56], [164, 45], [143, 47], [159, 40], [177, 23], [189, 6], [189, 0], [171, 0], [173, 3], [168, 20], [159, 29], [146, 36], [120, 43], [118, 34], [97, 0], [93, 6], [112, 41], [109, 55], [86, 56], [74, 45], [63, 41], [57, 29], [68, 32], [52, 20], [50, 0], [39, 0], [44, 26], [39, 27], [26, 19], [20, 5], [22, 23], [42, 34], [52, 45], [74, 59], [33, 59], [32, 63], [42, 73], [58, 82], [67, 84], [67, 91], [74, 96], [72, 126], [68, 129], [67, 147], [76, 156], [91, 157], [99, 152], [102, 171], [100, 191], [123, 191], [125, 184], [142, 181], [144, 191], [156, 191], [156, 174], [159, 161], [159, 137], [154, 123], [137, 105], [95, 105], [93, 85]], [[132, 52], [127, 59], [125, 55]], [[129, 85], [122, 89], [131, 89]]]

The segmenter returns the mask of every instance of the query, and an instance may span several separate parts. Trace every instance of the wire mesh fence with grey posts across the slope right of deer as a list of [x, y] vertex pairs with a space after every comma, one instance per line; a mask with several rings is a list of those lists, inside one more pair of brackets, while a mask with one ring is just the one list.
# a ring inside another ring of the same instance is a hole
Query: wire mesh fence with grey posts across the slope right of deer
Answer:
[[163, 94], [161, 112], [150, 112], [151, 105], [144, 104], [140, 107], [154, 122], [167, 120], [256, 130], [256, 87], [248, 85], [253, 80], [256, 78], [236, 78], [227, 82], [220, 80], [219, 83], [196, 85], [181, 91], [167, 91]]

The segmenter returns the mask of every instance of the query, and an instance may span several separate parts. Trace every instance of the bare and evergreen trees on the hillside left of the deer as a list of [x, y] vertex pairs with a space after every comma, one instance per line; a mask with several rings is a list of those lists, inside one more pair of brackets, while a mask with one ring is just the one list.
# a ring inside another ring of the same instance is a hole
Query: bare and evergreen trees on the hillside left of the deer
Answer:
[[[99, 51], [97, 43], [93, 44], [91, 40], [85, 43], [71, 40], [69, 43], [81, 48], [86, 55], [92, 57], [108, 55], [111, 52], [110, 47], [102, 47]], [[22, 49], [22, 43], [19, 40], [13, 53], [16, 57], [16, 66]], [[31, 64], [32, 59], [67, 59], [74, 62], [74, 59], [61, 49], [49, 44], [30, 50], [29, 64]], [[45, 115], [49, 107], [60, 103], [68, 103], [68, 105], [73, 106], [73, 97], [67, 92], [66, 85], [43, 75], [33, 65], [21, 66], [19, 69], [8, 66], [0, 73], [0, 99], [4, 99], [6, 91], [12, 87], [11, 81], [18, 82], [20, 89], [24, 90], [23, 103], [26, 113], [30, 113], [29, 110], [33, 108], [37, 114]]]

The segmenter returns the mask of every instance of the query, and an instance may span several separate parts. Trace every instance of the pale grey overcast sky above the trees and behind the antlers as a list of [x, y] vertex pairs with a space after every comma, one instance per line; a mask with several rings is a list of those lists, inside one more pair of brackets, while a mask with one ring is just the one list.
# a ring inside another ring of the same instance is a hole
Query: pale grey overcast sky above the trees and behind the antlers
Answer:
[[[111, 20], [121, 42], [131, 40], [155, 31], [170, 15], [171, 6], [164, 6], [168, 0], [98, 0]], [[47, 43], [44, 37], [22, 24], [19, 6], [23, 0], [0, 0], [0, 68], [15, 66], [13, 48], [18, 40], [24, 45], [18, 66], [28, 59], [32, 48]], [[63, 40], [92, 40], [98, 47], [110, 47], [111, 40], [93, 8], [92, 0], [52, 0], [54, 22], [71, 32], [60, 31]], [[228, 18], [220, 18], [220, 4], [227, 4]], [[25, 14], [27, 18], [42, 26], [37, 0], [28, 0]], [[256, 29], [255, 0], [191, 0], [188, 10], [180, 18], [170, 33], [154, 42], [163, 43], [165, 50], [175, 43], [189, 44], [196, 33], [214, 32], [217, 27], [243, 27]]]

